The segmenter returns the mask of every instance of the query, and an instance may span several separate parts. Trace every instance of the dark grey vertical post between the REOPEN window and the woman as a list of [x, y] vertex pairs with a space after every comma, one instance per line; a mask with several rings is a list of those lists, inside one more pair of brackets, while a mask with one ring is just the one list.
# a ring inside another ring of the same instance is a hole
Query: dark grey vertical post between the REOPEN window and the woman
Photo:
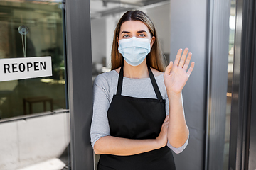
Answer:
[[73, 170], [94, 168], [90, 145], [92, 50], [90, 1], [66, 1], [68, 93]]

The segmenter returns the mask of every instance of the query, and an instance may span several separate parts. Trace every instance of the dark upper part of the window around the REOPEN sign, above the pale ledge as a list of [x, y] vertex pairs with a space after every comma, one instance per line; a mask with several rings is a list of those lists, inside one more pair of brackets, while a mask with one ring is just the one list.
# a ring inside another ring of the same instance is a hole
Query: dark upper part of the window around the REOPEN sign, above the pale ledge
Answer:
[[[51, 56], [53, 66], [52, 77], [0, 82], [0, 117], [65, 108], [60, 5], [8, 1], [0, 5], [0, 58]], [[26, 35], [18, 32], [20, 26], [28, 28]]]

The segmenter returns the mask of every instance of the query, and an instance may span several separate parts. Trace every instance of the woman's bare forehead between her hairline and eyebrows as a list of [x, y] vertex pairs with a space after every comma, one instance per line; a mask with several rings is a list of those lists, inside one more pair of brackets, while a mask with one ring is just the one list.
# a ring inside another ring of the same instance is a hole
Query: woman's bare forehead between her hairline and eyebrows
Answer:
[[146, 32], [149, 33], [149, 28], [142, 23], [142, 21], [125, 21], [120, 27], [120, 33], [124, 30], [131, 33], [139, 30], [146, 30]]

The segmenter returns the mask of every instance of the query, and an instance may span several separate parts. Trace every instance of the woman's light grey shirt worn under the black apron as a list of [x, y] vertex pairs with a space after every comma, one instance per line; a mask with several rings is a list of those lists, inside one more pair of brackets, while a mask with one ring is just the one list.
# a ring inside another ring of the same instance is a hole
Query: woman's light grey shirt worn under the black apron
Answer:
[[[94, 147], [95, 142], [100, 137], [110, 135], [110, 126], [107, 120], [107, 110], [110, 107], [113, 95], [117, 93], [117, 82], [119, 74], [112, 70], [98, 75], [93, 84], [93, 116], [91, 125], [91, 142]], [[155, 77], [159, 86], [161, 96], [166, 100], [166, 115], [169, 115], [169, 101], [164, 85], [164, 74]], [[131, 79], [124, 77], [122, 84], [122, 95], [135, 98], [156, 98], [154, 88], [150, 78]], [[181, 147], [172, 147], [167, 144], [176, 154], [183, 151], [188, 145], [188, 139]]]

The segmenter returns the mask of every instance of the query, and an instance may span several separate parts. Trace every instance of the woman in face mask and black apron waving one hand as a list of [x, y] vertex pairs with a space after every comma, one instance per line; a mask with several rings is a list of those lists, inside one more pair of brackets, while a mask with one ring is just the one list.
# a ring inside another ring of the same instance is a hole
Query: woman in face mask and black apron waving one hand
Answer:
[[181, 90], [194, 67], [192, 62], [188, 69], [188, 49], [181, 53], [164, 72], [149, 17], [127, 11], [120, 18], [112, 71], [94, 83], [91, 141], [95, 154], [101, 154], [98, 169], [175, 169], [171, 149], [182, 152], [189, 134]]

